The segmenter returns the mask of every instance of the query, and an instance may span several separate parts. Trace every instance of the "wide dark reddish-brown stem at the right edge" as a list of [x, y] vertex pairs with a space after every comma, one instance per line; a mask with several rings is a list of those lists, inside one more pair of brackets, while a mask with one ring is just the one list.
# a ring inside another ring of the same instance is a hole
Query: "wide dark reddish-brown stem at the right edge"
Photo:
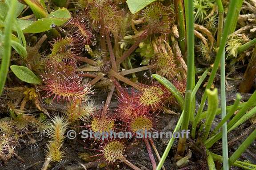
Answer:
[[239, 91], [241, 93], [248, 93], [252, 89], [254, 83], [253, 80], [256, 78], [256, 46], [254, 47], [252, 58], [247, 66], [244, 73], [244, 78], [239, 86]]

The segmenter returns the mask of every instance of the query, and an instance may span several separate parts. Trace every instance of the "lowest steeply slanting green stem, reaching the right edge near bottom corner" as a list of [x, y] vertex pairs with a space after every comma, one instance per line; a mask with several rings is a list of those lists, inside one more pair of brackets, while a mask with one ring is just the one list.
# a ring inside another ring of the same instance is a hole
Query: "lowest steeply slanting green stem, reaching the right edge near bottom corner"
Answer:
[[232, 166], [234, 162], [244, 153], [244, 151], [251, 145], [251, 143], [256, 139], [256, 129], [248, 136], [247, 139], [238, 147], [238, 149], [229, 158], [229, 165]]

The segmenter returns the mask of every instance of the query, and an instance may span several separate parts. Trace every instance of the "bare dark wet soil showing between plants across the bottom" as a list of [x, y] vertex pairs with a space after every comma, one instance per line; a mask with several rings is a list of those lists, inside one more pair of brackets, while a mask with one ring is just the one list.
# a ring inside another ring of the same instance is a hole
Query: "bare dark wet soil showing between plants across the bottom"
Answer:
[[[96, 103], [101, 103], [101, 101], [104, 101], [106, 98], [107, 93], [96, 93], [96, 98], [99, 98], [99, 101], [96, 101]], [[249, 97], [250, 95], [245, 94], [244, 98]], [[228, 93], [228, 102], [233, 101], [235, 98], [235, 93]], [[4, 100], [4, 97], [0, 100]], [[4, 103], [4, 102], [3, 102]], [[116, 98], [114, 97], [110, 108], [115, 108], [117, 104]], [[1, 107], [0, 107], [1, 108]], [[4, 107], [2, 107], [4, 108]], [[56, 110], [63, 109], [62, 106], [53, 106], [52, 108]], [[172, 109], [172, 110], [175, 110]], [[3, 112], [3, 110], [2, 110]], [[178, 113], [179, 114], [179, 113]], [[179, 115], [170, 115], [170, 114], [163, 114], [160, 113], [158, 115], [159, 120], [156, 124], [156, 130], [158, 131], [173, 131], [175, 128], [176, 122], [179, 118]], [[216, 123], [220, 121], [220, 117], [216, 118]], [[250, 132], [256, 127], [256, 125], [252, 125], [250, 122], [247, 122], [237, 128], [236, 130], [232, 131], [232, 133], [229, 133], [228, 141], [232, 141], [229, 143], [229, 154], [231, 155], [244, 141], [246, 136], [250, 134]], [[20, 142], [20, 146], [16, 148], [16, 154], [20, 157], [14, 156], [11, 160], [8, 162], [0, 162], [0, 170], [41, 170], [44, 161], [45, 161], [45, 146], [48, 141], [48, 138], [45, 136], [35, 135], [35, 139], [38, 140], [36, 145], [28, 145], [28, 143]], [[158, 149], [160, 155], [163, 154], [165, 147], [168, 143], [169, 139], [156, 139], [154, 140], [156, 144], [156, 148]], [[189, 141], [189, 149], [192, 151], [192, 158], [190, 159], [190, 162], [188, 163], [187, 168], [183, 168], [180, 170], [208, 170], [206, 156], [205, 156], [205, 150], [203, 147], [200, 147], [198, 144], [196, 144], [195, 141], [192, 139], [188, 139]], [[135, 164], [136, 166], [140, 167], [141, 170], [152, 170], [151, 162], [148, 158], [148, 152], [144, 145], [144, 143], [141, 140], [129, 140], [129, 147], [126, 148], [126, 155], [127, 159]], [[81, 158], [81, 154], [83, 153], [89, 153], [91, 155], [95, 155], [96, 153], [93, 153], [91, 151], [88, 151], [84, 149], [84, 147], [88, 146], [87, 141], [82, 141], [80, 139], [70, 140], [67, 139], [64, 143], [65, 148], [65, 158], [58, 163], [51, 163], [48, 170], [85, 170], [84, 167], [86, 167], [88, 170], [99, 170], [98, 168], [98, 162], [97, 159], [94, 160], [95, 162], [88, 162], [88, 159]], [[196, 146], [196, 147], [195, 147]], [[244, 154], [240, 157], [240, 160], [248, 160], [249, 162], [252, 162], [256, 164], [256, 142], [252, 143], [252, 145], [244, 152]], [[176, 153], [176, 147], [177, 147], [177, 140], [172, 146], [171, 151], [169, 152], [168, 158], [166, 159], [166, 162], [164, 163], [164, 166], [166, 170], [178, 170], [176, 167], [176, 164], [174, 163], [174, 155]], [[188, 151], [188, 150], [187, 150]], [[221, 143], [216, 143], [212, 147], [212, 151], [216, 154], [221, 155]], [[156, 156], [156, 155], [155, 155]], [[156, 158], [156, 157], [155, 157]], [[22, 160], [21, 160], [22, 159]], [[24, 160], [24, 162], [22, 162]], [[156, 158], [157, 160], [157, 158]], [[84, 166], [82, 166], [83, 164]], [[118, 168], [119, 167], [119, 168]], [[130, 170], [128, 166], [125, 166], [124, 163], [116, 163], [114, 166], [109, 166], [108, 170]], [[232, 170], [239, 170], [239, 168], [231, 168]]]

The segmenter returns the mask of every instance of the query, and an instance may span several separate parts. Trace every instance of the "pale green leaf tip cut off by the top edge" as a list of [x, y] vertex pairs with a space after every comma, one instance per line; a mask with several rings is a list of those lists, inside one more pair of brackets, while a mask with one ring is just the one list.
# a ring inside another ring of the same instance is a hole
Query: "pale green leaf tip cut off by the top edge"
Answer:
[[126, 3], [128, 4], [130, 12], [135, 14], [154, 1], [156, 0], [127, 0]]

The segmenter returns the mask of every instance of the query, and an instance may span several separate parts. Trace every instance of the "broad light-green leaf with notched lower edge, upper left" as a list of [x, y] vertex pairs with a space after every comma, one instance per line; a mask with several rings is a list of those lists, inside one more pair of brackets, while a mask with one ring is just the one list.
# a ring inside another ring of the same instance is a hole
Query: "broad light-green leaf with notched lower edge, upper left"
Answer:
[[48, 17], [38, 19], [23, 30], [24, 33], [40, 33], [52, 29], [53, 25], [60, 26], [71, 18], [70, 12], [66, 8], [51, 12]]

